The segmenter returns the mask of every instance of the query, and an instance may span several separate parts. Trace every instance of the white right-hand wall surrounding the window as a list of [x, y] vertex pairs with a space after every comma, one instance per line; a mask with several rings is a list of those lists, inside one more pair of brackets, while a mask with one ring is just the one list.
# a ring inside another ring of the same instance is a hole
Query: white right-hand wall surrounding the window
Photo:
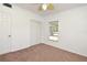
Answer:
[[[48, 41], [48, 22], [59, 22], [58, 42]], [[43, 23], [42, 42], [87, 56], [87, 6], [46, 17]]]

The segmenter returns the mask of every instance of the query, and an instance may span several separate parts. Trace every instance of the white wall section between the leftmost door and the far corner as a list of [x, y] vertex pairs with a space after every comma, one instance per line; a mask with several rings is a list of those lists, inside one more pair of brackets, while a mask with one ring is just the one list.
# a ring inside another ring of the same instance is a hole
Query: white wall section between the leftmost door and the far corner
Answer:
[[[15, 47], [12, 47], [12, 50], [19, 50], [19, 48], [25, 48], [25, 47], [29, 47], [31, 45], [34, 45], [34, 44], [39, 44], [40, 43], [40, 34], [36, 34], [36, 31], [33, 30], [33, 28], [35, 26], [33, 23], [32, 24], [32, 20], [36, 20], [36, 21], [41, 21], [41, 17], [30, 12], [29, 10], [24, 10], [24, 9], [21, 9], [17, 6], [14, 6], [14, 12], [13, 13], [13, 21], [14, 23], [12, 23], [12, 26], [14, 26], [12, 29], [12, 33], [14, 35], [14, 39], [12, 39], [12, 43], [17, 43], [17, 44], [13, 44], [13, 46]], [[17, 22], [15, 22], [17, 21]], [[35, 26], [36, 28], [36, 26]], [[40, 26], [41, 28], [41, 26]], [[14, 32], [18, 31], [18, 32]], [[33, 34], [31, 34], [33, 33]], [[36, 37], [36, 40], [35, 40]], [[20, 40], [20, 42], [19, 42]]]

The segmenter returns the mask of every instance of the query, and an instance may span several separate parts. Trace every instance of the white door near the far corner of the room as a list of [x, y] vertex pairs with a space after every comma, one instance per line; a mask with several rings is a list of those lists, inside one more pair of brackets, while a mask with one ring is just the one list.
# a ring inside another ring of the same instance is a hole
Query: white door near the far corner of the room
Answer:
[[41, 23], [35, 20], [31, 20], [30, 22], [30, 44], [39, 44], [41, 43]]

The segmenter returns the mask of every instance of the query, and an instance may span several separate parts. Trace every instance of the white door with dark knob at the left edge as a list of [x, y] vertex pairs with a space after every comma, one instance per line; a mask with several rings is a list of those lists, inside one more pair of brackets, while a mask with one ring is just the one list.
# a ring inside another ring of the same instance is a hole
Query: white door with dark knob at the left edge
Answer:
[[10, 52], [11, 30], [10, 13], [4, 7], [0, 7], [0, 54]]

